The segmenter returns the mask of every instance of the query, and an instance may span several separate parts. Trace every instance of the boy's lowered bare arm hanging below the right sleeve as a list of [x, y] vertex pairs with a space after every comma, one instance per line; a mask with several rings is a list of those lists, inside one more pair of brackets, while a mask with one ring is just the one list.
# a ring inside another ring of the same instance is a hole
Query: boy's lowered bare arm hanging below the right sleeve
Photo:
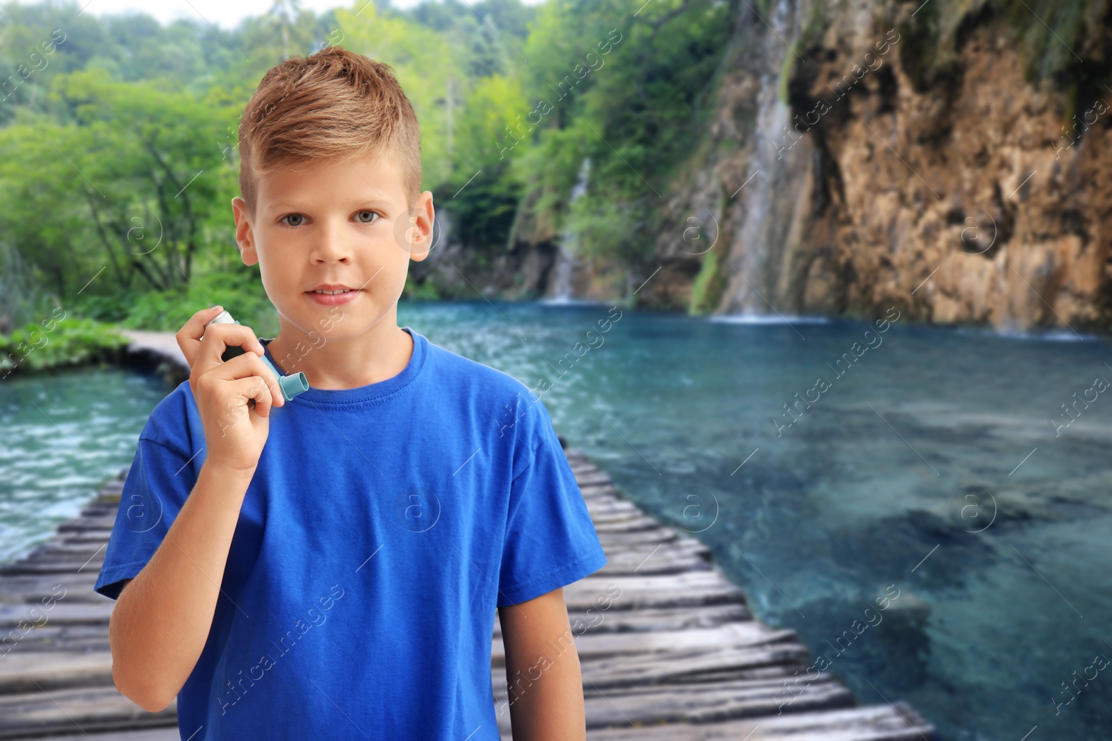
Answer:
[[498, 608], [498, 621], [514, 741], [585, 741], [583, 675], [564, 589]]

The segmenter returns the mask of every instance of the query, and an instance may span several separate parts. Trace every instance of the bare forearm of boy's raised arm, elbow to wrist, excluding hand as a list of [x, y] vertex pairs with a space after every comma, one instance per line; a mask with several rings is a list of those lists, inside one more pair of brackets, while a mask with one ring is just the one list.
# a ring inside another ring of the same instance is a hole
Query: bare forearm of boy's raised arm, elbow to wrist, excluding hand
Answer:
[[205, 649], [251, 475], [206, 462], [162, 543], [116, 601], [112, 681], [143, 710], [169, 705]]

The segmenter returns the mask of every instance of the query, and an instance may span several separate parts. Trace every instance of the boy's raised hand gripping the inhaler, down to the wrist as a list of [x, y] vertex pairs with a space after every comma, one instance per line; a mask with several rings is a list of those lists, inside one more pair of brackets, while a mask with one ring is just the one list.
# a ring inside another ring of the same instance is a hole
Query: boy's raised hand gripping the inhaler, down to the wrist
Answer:
[[[270, 430], [270, 408], [286, 403], [278, 380], [260, 360], [262, 343], [244, 324], [207, 324], [220, 307], [195, 313], [175, 336], [189, 363], [189, 388], [205, 427], [207, 460], [254, 470]], [[245, 352], [222, 361], [227, 347]], [[249, 422], [244, 424], [244, 422]]]

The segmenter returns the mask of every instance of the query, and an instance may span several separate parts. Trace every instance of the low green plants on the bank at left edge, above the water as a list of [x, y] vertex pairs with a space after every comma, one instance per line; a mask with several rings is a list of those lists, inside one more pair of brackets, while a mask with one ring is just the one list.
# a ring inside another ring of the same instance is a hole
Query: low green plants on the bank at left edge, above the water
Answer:
[[127, 338], [111, 324], [63, 316], [0, 334], [0, 371], [38, 371], [87, 363], [126, 347]]

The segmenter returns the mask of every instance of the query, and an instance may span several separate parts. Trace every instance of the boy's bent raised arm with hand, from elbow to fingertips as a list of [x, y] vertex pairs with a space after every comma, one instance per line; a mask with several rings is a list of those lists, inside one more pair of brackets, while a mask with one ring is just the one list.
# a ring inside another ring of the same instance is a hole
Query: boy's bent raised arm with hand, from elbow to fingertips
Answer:
[[[260, 360], [265, 350], [255, 332], [242, 324], [209, 327], [218, 311], [198, 311], [176, 336], [205, 427], [205, 463], [158, 549], [118, 595], [108, 623], [116, 689], [152, 712], [170, 704], [205, 650], [270, 411], [286, 403]], [[232, 346], [247, 352], [225, 362], [225, 348]]]

